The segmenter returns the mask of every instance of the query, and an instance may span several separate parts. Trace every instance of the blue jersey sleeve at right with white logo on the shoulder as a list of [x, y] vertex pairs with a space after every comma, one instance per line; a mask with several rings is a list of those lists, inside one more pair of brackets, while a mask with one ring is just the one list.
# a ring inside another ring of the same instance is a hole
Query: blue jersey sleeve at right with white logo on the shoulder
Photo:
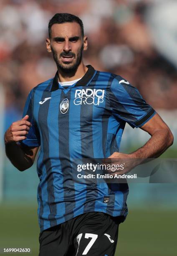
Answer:
[[132, 128], [141, 127], [156, 113], [137, 88], [120, 76], [111, 83], [109, 100], [113, 115], [129, 123]]

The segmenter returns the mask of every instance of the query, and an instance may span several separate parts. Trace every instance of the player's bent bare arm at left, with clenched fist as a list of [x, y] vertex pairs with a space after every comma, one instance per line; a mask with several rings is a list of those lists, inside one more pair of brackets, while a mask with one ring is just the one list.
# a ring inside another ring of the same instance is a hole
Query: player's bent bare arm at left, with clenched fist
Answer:
[[38, 152], [38, 147], [28, 147], [18, 143], [26, 139], [31, 127], [28, 118], [29, 116], [25, 115], [22, 120], [12, 123], [4, 136], [6, 155], [19, 171], [30, 168]]

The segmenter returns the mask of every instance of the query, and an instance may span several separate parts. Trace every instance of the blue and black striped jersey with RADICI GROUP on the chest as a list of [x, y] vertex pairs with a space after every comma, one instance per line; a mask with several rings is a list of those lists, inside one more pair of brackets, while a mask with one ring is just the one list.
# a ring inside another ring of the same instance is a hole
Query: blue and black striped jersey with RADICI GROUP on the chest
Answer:
[[[127, 184], [74, 182], [73, 159], [105, 158], [119, 151], [126, 122], [140, 127], [155, 114], [138, 90], [109, 72], [88, 71], [67, 89], [55, 77], [30, 91], [23, 116], [32, 127], [25, 146], [40, 146], [37, 172], [40, 230], [85, 212], [127, 215]], [[109, 197], [109, 202], [104, 201]]]

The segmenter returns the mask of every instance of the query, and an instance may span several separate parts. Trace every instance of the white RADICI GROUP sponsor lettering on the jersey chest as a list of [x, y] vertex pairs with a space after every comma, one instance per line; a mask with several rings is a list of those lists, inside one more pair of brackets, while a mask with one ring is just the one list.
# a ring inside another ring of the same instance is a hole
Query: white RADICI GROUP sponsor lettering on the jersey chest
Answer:
[[81, 105], [81, 104], [99, 105], [102, 102], [104, 102], [104, 90], [82, 89], [82, 90], [76, 90], [75, 92], [75, 99], [74, 99], [75, 105]]

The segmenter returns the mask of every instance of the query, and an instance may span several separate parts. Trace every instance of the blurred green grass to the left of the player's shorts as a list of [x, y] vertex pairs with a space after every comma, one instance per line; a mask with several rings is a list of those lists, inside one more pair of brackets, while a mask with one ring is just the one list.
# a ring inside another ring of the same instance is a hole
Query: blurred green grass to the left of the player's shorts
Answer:
[[[38, 255], [37, 207], [20, 205], [0, 206], [0, 248], [30, 248], [31, 256]], [[23, 253], [14, 253], [21, 255]]]

